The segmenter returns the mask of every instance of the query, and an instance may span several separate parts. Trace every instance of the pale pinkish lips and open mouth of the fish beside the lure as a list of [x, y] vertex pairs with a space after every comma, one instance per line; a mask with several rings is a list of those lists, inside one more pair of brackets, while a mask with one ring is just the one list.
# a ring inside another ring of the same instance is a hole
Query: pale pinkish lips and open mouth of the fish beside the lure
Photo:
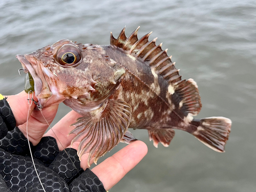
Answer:
[[[39, 106], [42, 109], [46, 105], [48, 98], [51, 97], [52, 92], [49, 89], [48, 83], [46, 82], [44, 75], [40, 74], [40, 78], [38, 73], [32, 66], [33, 62], [31, 64], [31, 62], [29, 61], [32, 60], [32, 57], [28, 54], [16, 55], [16, 58], [22, 64], [24, 73], [29, 72], [34, 80], [35, 96], [38, 98]], [[34, 66], [36, 66], [36, 63]]]

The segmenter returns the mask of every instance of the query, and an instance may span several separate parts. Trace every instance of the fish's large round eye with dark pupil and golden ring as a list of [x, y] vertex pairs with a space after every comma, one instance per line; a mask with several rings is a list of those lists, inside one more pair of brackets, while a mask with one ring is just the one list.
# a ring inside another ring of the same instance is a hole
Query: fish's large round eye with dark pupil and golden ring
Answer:
[[62, 67], [75, 67], [81, 60], [81, 53], [76, 46], [65, 44], [59, 48], [55, 55], [55, 59]]

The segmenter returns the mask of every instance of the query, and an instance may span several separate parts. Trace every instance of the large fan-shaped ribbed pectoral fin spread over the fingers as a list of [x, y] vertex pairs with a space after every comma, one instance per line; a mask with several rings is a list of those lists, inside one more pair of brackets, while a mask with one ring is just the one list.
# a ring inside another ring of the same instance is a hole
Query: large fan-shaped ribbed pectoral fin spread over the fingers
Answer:
[[72, 143], [80, 141], [77, 152], [79, 158], [89, 153], [88, 165], [90, 166], [92, 158], [95, 158], [96, 164], [101, 156], [111, 151], [123, 139], [131, 114], [132, 108], [126, 102], [108, 100], [101, 112], [78, 118], [72, 124], [76, 128], [71, 133], [77, 134]]

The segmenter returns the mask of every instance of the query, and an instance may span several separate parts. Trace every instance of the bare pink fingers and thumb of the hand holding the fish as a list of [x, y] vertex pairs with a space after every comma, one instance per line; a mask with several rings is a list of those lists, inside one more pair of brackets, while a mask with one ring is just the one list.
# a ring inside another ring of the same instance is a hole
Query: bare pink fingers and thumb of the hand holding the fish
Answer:
[[[63, 117], [56, 125], [52, 127], [52, 130], [45, 131], [48, 128], [47, 122], [42, 117], [40, 111], [33, 111], [35, 105], [32, 104], [29, 112], [30, 118], [27, 121], [27, 114], [29, 110], [28, 105], [28, 94], [21, 92], [18, 95], [8, 96], [8, 102], [11, 106], [12, 112], [16, 119], [16, 126], [19, 127], [20, 131], [26, 136], [26, 126], [28, 123], [28, 135], [33, 145], [36, 145], [42, 136], [54, 137], [58, 143], [59, 150], [70, 147], [71, 140], [75, 135], [69, 135], [68, 133], [74, 129], [70, 124], [75, 122], [79, 115], [71, 111], [65, 117]], [[37, 101], [36, 98], [34, 98]], [[57, 112], [58, 105], [53, 105], [48, 108], [42, 109], [42, 113], [49, 122], [54, 119]], [[56, 135], [55, 135], [56, 134]], [[61, 144], [60, 144], [61, 143]], [[78, 142], [75, 142], [72, 147], [77, 150]], [[103, 183], [104, 188], [109, 190], [113, 187], [124, 175], [129, 172], [138, 162], [146, 155], [147, 147], [141, 141], [135, 141], [114, 154], [112, 157], [106, 159], [99, 165], [92, 169], [92, 172], [98, 176], [100, 181]], [[81, 167], [86, 169], [88, 156], [84, 155], [81, 158]]]

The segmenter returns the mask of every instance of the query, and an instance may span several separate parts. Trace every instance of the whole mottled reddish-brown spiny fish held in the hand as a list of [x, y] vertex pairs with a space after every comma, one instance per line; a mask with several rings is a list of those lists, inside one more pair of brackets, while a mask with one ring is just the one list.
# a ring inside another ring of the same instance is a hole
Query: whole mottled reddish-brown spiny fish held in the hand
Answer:
[[57, 41], [30, 54], [17, 55], [34, 79], [41, 108], [65, 103], [82, 117], [71, 132], [80, 141], [78, 156], [98, 158], [120, 141], [136, 140], [128, 128], [146, 129], [157, 147], [168, 146], [174, 129], [194, 135], [208, 147], [224, 152], [231, 121], [225, 117], [193, 119], [202, 107], [193, 79], [181, 79], [166, 50], [151, 33], [137, 38], [121, 31], [110, 46]]

